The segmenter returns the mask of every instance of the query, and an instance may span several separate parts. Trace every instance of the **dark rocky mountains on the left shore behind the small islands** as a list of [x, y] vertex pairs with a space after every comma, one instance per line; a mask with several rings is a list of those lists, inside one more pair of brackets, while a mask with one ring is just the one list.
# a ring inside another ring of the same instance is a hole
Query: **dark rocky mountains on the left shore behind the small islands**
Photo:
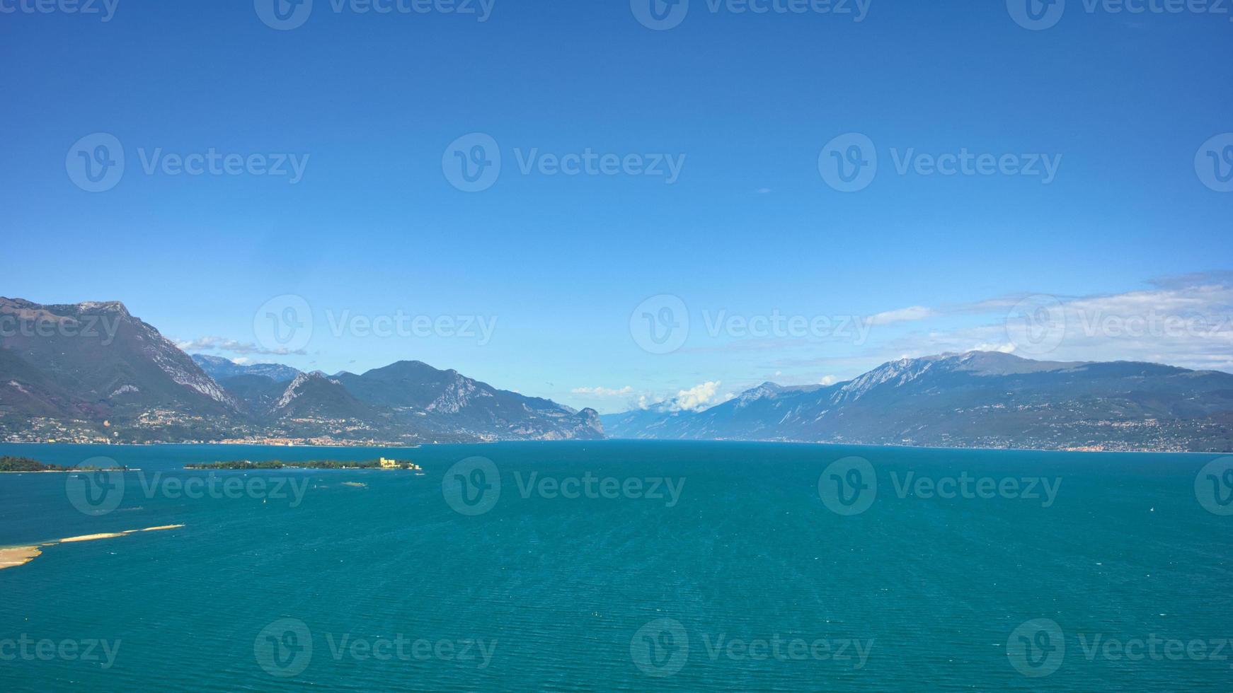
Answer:
[[398, 362], [363, 375], [189, 357], [118, 302], [0, 298], [0, 438], [472, 442], [602, 438], [594, 410]]

